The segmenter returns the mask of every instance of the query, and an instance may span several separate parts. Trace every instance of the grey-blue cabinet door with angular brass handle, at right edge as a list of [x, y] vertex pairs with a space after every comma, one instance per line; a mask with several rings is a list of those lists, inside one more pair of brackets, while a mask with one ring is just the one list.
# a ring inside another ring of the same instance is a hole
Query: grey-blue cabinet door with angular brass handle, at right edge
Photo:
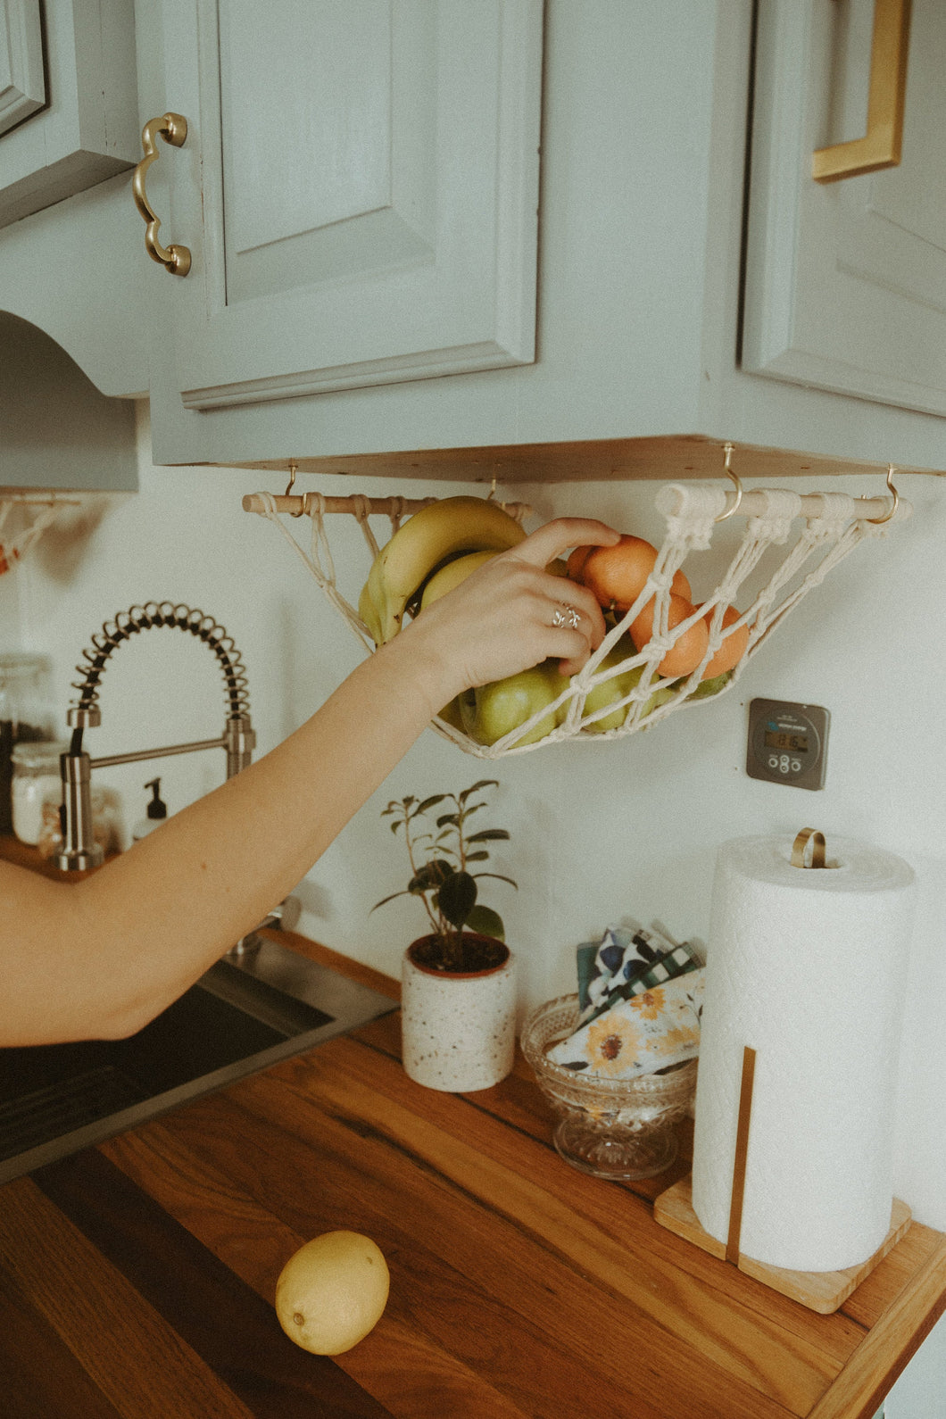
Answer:
[[816, 148], [864, 132], [871, 14], [869, 0], [760, 6], [743, 368], [943, 414], [939, 0], [913, 0], [901, 166], [811, 177]]

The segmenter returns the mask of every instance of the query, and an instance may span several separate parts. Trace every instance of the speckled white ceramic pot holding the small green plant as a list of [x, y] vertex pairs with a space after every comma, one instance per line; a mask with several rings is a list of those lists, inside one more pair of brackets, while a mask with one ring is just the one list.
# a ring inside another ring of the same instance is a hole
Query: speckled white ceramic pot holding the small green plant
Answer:
[[[423, 938], [421, 938], [423, 939]], [[516, 1044], [516, 964], [447, 975], [401, 965], [401, 1054], [410, 1078], [427, 1088], [465, 1094], [489, 1088], [512, 1070]]]

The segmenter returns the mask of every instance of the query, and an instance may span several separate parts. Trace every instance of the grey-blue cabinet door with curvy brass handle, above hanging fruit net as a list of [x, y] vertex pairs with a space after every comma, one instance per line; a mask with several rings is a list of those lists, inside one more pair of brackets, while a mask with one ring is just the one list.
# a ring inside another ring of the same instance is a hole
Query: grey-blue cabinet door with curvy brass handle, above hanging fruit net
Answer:
[[149, 68], [145, 88], [189, 135], [149, 193], [163, 167], [160, 240], [193, 264], [148, 272], [156, 444], [163, 402], [533, 360], [542, 0], [163, 0], [160, 16], [163, 82]]

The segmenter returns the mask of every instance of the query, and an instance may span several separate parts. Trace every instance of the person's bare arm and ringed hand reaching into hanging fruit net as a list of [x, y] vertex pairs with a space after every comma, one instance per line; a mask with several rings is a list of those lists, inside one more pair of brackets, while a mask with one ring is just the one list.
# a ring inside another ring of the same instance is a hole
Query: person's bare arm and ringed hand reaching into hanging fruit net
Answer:
[[[370, 656], [271, 753], [77, 887], [0, 870], [0, 1044], [130, 1033], [180, 995], [309, 871], [434, 714], [546, 657], [577, 670], [604, 633], [549, 561], [617, 534], [547, 524]], [[1, 864], [0, 864], [1, 866]]]

